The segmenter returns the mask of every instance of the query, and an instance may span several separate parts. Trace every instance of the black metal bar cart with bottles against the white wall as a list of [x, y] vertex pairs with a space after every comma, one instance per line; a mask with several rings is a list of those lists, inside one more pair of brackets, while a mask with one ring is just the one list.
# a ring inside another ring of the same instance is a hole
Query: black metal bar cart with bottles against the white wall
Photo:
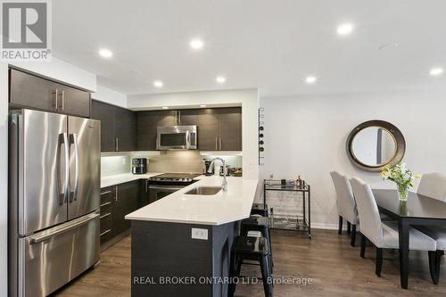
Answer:
[[[263, 180], [263, 203], [268, 205], [267, 194], [270, 191], [287, 191], [293, 192], [294, 197], [302, 202], [301, 213], [291, 215], [277, 214], [274, 212], [274, 208], [269, 210], [269, 225], [272, 229], [280, 230], [292, 230], [307, 232], [309, 238], [311, 238], [311, 190], [310, 185], [302, 181], [302, 184], [297, 185], [282, 185], [280, 180], [264, 179]], [[301, 193], [301, 195], [299, 195]], [[273, 199], [270, 197], [269, 199]]]

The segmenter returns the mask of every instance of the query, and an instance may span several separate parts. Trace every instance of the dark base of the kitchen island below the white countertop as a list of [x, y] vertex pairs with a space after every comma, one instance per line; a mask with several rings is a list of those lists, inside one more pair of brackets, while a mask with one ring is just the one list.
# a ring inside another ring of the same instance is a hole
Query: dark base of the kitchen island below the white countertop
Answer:
[[[192, 228], [206, 229], [208, 239], [192, 238]], [[227, 285], [210, 280], [227, 276], [234, 230], [132, 220], [132, 296], [223, 296]]]

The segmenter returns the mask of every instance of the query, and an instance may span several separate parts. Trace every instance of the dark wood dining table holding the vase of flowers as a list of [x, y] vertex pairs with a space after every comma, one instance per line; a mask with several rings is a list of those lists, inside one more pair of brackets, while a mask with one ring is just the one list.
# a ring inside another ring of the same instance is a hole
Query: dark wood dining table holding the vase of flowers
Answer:
[[396, 190], [373, 190], [380, 212], [399, 223], [401, 287], [409, 283], [409, 228], [411, 226], [446, 226], [446, 202], [409, 192], [407, 202], [400, 202]]

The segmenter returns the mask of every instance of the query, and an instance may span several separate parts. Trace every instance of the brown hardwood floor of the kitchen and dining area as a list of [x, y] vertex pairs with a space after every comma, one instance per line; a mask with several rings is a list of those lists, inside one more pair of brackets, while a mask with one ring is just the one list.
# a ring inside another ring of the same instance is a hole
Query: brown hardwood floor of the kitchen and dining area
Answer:
[[[359, 237], [359, 236], [358, 236]], [[357, 237], [357, 238], [358, 238]], [[359, 239], [359, 238], [358, 238]], [[314, 230], [313, 239], [272, 231], [275, 277], [311, 278], [311, 285], [275, 285], [279, 296], [445, 296], [446, 263], [442, 260], [439, 285], [433, 285], [427, 252], [410, 252], [409, 290], [400, 287], [397, 251], [384, 251], [383, 272], [375, 276], [375, 248], [359, 258], [359, 240], [352, 248], [348, 235]], [[444, 257], [443, 257], [444, 258]], [[258, 267], [242, 268], [244, 276], [260, 276]], [[101, 254], [99, 267], [80, 276], [58, 296], [130, 296], [130, 237]], [[235, 296], [263, 296], [262, 285], [237, 285]]]

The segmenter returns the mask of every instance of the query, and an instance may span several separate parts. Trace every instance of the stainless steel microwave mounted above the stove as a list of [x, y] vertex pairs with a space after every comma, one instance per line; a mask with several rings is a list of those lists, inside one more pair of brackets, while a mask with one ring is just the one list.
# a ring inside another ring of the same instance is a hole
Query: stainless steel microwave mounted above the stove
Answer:
[[156, 134], [157, 150], [196, 150], [196, 126], [159, 126]]

